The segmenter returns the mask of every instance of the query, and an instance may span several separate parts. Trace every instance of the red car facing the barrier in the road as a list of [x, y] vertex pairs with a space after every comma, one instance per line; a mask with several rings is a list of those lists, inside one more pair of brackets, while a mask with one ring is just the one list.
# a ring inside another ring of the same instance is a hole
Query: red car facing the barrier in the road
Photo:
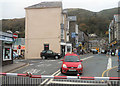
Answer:
[[80, 60], [80, 57], [77, 54], [66, 54], [61, 61], [63, 61], [61, 73], [80, 75], [83, 73], [82, 60]]

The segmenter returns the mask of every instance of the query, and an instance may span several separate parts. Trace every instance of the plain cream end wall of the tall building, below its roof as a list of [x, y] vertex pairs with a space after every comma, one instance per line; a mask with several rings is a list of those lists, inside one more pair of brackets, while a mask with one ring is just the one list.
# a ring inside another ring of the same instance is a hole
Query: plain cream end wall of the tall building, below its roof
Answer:
[[25, 58], [39, 58], [44, 44], [60, 53], [61, 8], [26, 9]]

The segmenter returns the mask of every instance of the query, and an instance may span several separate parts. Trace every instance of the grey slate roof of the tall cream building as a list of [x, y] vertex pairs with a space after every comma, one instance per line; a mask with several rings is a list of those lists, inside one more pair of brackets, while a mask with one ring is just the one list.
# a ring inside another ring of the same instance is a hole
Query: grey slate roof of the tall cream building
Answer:
[[61, 7], [62, 8], [62, 2], [60, 1], [55, 1], [55, 2], [41, 2], [39, 4], [35, 4], [32, 6], [29, 6], [25, 9], [32, 9], [32, 8], [56, 8], [56, 7]]

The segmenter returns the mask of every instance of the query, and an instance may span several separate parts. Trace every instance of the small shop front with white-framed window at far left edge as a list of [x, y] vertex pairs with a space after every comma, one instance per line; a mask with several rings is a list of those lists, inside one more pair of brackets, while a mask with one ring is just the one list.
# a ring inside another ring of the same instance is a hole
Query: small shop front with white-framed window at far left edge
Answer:
[[5, 32], [0, 32], [1, 50], [2, 50], [2, 65], [13, 63], [13, 36]]

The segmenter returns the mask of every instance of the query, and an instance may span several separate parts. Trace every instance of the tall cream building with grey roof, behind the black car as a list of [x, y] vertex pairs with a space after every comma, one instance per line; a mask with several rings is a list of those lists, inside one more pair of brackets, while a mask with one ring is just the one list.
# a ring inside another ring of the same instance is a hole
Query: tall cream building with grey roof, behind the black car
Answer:
[[40, 52], [45, 49], [65, 53], [67, 16], [62, 2], [41, 2], [25, 10], [25, 58], [40, 58]]

